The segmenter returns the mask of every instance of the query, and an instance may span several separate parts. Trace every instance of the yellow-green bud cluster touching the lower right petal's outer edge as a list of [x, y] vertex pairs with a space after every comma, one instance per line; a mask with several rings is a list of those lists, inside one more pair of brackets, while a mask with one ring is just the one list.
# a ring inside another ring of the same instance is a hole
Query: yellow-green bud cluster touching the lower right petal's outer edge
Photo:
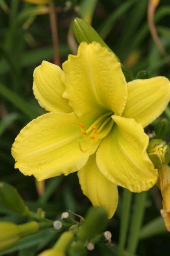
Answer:
[[160, 168], [170, 162], [170, 147], [162, 140], [153, 139], [150, 141], [147, 153], [156, 168]]

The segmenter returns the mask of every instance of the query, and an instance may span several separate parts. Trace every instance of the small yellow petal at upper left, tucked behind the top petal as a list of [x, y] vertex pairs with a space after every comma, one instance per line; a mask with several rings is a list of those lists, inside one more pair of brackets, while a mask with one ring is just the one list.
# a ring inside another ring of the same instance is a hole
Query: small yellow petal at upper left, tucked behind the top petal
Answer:
[[63, 71], [57, 65], [43, 61], [34, 70], [33, 91], [39, 105], [50, 112], [70, 113], [69, 101], [62, 97], [65, 86], [61, 82]]

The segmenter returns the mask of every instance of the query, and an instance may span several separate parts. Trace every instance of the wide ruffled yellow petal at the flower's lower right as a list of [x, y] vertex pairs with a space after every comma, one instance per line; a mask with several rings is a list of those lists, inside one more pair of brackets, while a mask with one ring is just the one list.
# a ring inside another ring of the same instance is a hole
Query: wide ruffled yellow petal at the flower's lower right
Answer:
[[134, 119], [112, 116], [116, 124], [97, 150], [100, 171], [116, 185], [132, 192], [151, 188], [158, 178], [146, 148], [148, 136]]

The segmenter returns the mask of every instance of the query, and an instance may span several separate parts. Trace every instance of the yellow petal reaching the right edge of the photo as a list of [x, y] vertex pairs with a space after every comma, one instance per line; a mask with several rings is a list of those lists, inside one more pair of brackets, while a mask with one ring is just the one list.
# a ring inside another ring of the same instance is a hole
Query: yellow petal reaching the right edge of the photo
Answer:
[[170, 81], [158, 76], [128, 83], [128, 99], [123, 116], [134, 118], [143, 127], [154, 121], [170, 101]]

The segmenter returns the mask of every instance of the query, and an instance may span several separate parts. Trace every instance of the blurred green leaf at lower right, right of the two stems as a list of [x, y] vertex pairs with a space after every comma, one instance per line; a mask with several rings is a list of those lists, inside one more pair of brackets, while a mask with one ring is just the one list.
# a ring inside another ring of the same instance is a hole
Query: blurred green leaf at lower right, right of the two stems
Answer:
[[142, 227], [139, 233], [139, 239], [156, 236], [163, 233], [167, 233], [167, 230], [163, 218], [158, 217]]

